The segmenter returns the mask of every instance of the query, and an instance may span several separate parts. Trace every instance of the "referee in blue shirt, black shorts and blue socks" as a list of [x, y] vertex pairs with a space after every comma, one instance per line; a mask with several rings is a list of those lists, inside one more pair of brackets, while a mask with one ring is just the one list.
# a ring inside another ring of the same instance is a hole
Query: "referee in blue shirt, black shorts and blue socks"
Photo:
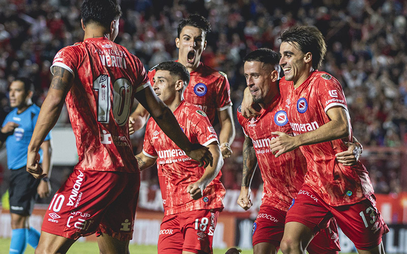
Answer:
[[28, 225], [37, 194], [41, 198], [49, 195], [51, 190], [49, 176], [51, 173], [50, 133], [41, 145], [40, 155], [42, 169], [47, 177], [35, 179], [26, 172], [27, 150], [33, 135], [40, 108], [33, 104], [33, 83], [27, 78], [17, 78], [9, 86], [10, 106], [14, 108], [3, 122], [0, 130], [0, 147], [6, 143], [7, 166], [10, 177], [10, 213], [12, 237], [10, 253], [23, 253], [27, 243], [36, 248], [40, 233]]

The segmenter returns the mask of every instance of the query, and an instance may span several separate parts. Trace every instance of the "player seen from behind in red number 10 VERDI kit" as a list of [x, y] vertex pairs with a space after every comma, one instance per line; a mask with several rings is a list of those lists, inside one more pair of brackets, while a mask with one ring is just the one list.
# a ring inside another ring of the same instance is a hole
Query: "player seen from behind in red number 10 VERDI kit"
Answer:
[[134, 98], [189, 157], [200, 166], [212, 164], [208, 148], [192, 144], [154, 94], [140, 60], [113, 43], [121, 14], [115, 0], [85, 0], [81, 6], [83, 42], [63, 48], [54, 57], [54, 76], [28, 145], [27, 171], [36, 178], [46, 176], [38, 165], [38, 150], [64, 101], [79, 162], [49, 205], [37, 253], [65, 253], [79, 237], [95, 232], [100, 252], [129, 252], [140, 186], [128, 134]]

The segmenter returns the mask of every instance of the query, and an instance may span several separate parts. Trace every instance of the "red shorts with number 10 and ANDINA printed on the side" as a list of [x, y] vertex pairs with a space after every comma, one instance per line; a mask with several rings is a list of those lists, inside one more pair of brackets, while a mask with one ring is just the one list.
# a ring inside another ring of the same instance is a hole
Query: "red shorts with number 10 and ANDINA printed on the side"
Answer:
[[42, 231], [78, 239], [95, 232], [131, 240], [139, 173], [75, 169], [49, 204]]

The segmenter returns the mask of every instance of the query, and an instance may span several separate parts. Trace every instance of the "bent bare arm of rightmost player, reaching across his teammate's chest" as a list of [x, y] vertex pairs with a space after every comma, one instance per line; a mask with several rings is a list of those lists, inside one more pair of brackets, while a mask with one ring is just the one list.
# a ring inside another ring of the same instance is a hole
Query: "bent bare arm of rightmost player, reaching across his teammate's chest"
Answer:
[[327, 115], [331, 120], [311, 132], [294, 137], [281, 132], [273, 132], [272, 134], [279, 135], [279, 137], [270, 141], [273, 154], [278, 157], [282, 153], [292, 151], [302, 145], [323, 143], [349, 136], [350, 126], [346, 109], [335, 106], [328, 109]]

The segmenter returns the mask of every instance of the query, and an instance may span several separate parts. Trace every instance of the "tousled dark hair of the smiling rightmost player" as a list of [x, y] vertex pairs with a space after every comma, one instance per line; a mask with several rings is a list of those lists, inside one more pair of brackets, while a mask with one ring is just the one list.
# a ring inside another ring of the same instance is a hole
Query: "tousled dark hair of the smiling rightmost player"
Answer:
[[303, 53], [311, 52], [312, 68], [318, 69], [327, 53], [327, 44], [318, 28], [313, 26], [291, 26], [281, 32], [281, 42], [296, 42]]

